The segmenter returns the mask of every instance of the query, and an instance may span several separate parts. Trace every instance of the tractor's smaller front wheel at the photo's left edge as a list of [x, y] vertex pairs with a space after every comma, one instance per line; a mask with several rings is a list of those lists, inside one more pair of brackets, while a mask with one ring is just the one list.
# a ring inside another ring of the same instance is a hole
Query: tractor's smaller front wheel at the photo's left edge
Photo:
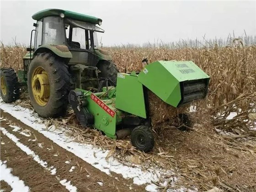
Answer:
[[14, 69], [3, 68], [0, 72], [1, 96], [5, 103], [16, 101], [20, 96], [20, 88], [17, 75]]

